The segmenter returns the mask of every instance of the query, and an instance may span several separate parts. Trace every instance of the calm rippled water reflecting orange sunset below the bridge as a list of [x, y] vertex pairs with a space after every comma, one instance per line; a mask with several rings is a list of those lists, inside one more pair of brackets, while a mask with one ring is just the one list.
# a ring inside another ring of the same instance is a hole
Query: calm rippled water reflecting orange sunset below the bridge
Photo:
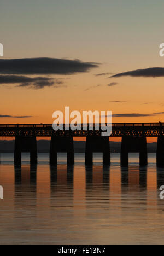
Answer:
[[57, 169], [48, 154], [38, 157], [30, 167], [23, 155], [20, 169], [13, 154], [1, 154], [1, 245], [164, 244], [164, 171], [156, 169], [155, 154], [147, 169], [130, 155], [128, 171], [121, 170], [119, 154], [112, 154], [110, 168], [96, 155], [92, 169], [84, 154], [75, 155], [72, 168], [60, 155]]

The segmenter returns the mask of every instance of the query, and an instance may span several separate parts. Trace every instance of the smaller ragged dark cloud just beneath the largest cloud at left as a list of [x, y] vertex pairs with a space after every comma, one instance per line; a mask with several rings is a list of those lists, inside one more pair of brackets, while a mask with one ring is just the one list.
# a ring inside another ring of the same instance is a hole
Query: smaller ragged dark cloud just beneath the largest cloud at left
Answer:
[[22, 75], [0, 75], [0, 84], [18, 84], [18, 87], [33, 89], [63, 87], [63, 82], [59, 79], [52, 79], [49, 77], [26, 77]]

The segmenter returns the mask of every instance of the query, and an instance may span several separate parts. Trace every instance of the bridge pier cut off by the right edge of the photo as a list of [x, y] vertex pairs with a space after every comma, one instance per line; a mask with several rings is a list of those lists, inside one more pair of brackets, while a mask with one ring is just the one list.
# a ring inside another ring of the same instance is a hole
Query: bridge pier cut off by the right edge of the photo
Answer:
[[156, 164], [157, 164], [157, 167], [164, 167], [164, 136], [158, 137]]

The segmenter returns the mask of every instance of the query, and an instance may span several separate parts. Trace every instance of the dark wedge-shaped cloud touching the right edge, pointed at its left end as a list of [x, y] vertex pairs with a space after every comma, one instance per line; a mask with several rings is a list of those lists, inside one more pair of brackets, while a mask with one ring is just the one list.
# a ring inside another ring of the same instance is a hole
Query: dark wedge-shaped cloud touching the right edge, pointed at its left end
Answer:
[[124, 73], [115, 74], [112, 77], [164, 77], [164, 68], [153, 67], [145, 69], [137, 69], [133, 71], [127, 71]]

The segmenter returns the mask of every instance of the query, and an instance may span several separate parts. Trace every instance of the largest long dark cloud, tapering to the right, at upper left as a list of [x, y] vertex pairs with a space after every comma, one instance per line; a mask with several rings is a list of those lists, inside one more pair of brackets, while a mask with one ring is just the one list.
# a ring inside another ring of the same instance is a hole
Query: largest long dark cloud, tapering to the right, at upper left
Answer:
[[0, 59], [0, 74], [36, 75], [60, 74], [68, 75], [88, 72], [98, 67], [98, 63], [82, 62], [80, 60], [31, 58], [31, 59]]

